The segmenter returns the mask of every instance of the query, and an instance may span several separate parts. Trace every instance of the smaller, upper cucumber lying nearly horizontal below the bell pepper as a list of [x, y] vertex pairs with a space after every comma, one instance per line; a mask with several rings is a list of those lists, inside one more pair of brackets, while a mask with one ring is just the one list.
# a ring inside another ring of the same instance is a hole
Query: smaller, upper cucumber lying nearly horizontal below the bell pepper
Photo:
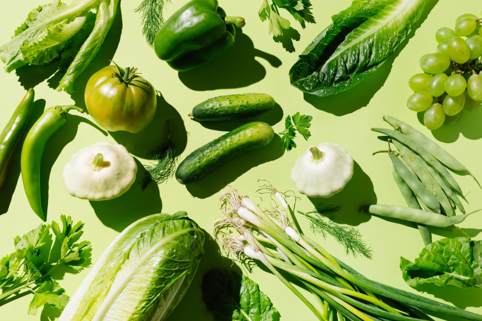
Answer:
[[262, 93], [217, 96], [194, 106], [189, 117], [198, 121], [246, 118], [267, 112], [274, 105], [273, 97]]

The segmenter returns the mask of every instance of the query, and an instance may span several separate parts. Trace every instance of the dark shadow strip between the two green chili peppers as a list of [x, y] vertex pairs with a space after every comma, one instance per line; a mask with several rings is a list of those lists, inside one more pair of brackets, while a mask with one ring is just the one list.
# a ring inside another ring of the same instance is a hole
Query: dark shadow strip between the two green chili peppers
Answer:
[[12, 202], [12, 197], [15, 192], [15, 188], [17, 187], [17, 184], [19, 182], [20, 155], [22, 154], [22, 144], [24, 143], [25, 136], [27, 135], [29, 129], [37, 121], [37, 119], [39, 119], [40, 115], [42, 115], [44, 109], [44, 99], [38, 99], [34, 101], [34, 105], [32, 107], [32, 114], [30, 115], [27, 128], [25, 129], [25, 132], [22, 135], [22, 138], [19, 141], [17, 147], [15, 147], [14, 154], [12, 155], [12, 159], [10, 161], [7, 177], [5, 178], [2, 189], [0, 189], [0, 215], [8, 212], [10, 203]]

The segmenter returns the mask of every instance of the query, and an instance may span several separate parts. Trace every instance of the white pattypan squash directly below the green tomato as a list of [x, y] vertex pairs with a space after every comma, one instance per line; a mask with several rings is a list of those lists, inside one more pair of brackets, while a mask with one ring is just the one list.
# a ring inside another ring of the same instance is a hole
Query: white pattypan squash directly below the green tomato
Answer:
[[75, 153], [64, 168], [70, 195], [101, 201], [121, 196], [136, 180], [137, 164], [123, 145], [98, 142]]

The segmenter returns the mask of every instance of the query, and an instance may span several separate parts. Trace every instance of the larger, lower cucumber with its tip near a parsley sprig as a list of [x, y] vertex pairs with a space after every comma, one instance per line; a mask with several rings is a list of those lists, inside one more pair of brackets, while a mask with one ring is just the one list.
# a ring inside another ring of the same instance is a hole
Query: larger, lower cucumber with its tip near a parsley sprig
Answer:
[[252, 121], [208, 142], [191, 152], [176, 170], [181, 184], [195, 182], [233, 157], [268, 145], [273, 128], [262, 121]]

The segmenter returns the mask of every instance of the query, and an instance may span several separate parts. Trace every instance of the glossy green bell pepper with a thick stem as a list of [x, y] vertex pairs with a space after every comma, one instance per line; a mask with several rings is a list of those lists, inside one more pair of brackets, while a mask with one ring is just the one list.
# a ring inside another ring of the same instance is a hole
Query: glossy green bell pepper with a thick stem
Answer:
[[185, 71], [216, 60], [234, 45], [240, 17], [226, 17], [217, 0], [192, 0], [176, 11], [156, 35], [156, 55], [174, 69]]

